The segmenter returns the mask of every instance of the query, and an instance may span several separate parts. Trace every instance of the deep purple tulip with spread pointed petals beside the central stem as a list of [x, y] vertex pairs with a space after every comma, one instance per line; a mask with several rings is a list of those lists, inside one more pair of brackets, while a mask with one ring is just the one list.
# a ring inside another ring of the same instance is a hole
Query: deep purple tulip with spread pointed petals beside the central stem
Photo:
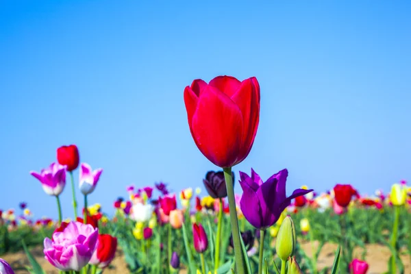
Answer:
[[243, 190], [240, 208], [245, 219], [258, 229], [271, 227], [291, 200], [306, 195], [310, 190], [297, 189], [286, 197], [286, 169], [271, 176], [264, 184], [260, 176], [251, 169], [251, 177], [240, 171], [240, 185]]

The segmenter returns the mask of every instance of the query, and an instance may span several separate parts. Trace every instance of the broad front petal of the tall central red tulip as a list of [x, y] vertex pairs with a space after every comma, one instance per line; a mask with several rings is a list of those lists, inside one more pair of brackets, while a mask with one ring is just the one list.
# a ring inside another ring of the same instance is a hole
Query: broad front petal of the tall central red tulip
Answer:
[[220, 167], [236, 164], [243, 121], [240, 109], [227, 95], [212, 86], [201, 91], [191, 126], [192, 138], [208, 160]]

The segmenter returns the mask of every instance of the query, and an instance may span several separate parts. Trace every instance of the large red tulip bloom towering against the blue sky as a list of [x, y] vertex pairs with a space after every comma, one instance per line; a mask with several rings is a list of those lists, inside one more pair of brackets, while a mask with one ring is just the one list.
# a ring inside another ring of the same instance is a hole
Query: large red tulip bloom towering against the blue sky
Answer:
[[256, 77], [240, 82], [219, 76], [209, 84], [196, 79], [184, 89], [184, 102], [192, 138], [208, 160], [225, 168], [247, 157], [260, 119]]

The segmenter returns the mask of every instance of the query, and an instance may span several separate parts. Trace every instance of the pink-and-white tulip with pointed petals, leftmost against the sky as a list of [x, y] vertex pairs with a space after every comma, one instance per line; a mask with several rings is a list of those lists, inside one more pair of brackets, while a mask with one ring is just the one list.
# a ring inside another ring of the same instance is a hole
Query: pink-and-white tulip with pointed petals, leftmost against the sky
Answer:
[[66, 186], [66, 166], [53, 162], [47, 169], [42, 169], [40, 173], [30, 171], [42, 185], [43, 190], [48, 195], [58, 196]]

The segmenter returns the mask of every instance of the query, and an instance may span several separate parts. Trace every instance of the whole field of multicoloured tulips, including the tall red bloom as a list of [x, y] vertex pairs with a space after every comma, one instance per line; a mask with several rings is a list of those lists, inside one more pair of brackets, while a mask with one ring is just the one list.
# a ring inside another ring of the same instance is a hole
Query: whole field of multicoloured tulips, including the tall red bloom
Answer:
[[[56, 162], [29, 172], [55, 199], [58, 219], [33, 219], [26, 203], [1, 211], [0, 274], [411, 273], [406, 181], [373, 196], [350, 184], [287, 193], [287, 169], [269, 178], [258, 167], [232, 171], [257, 134], [255, 77], [197, 79], [185, 88], [184, 102], [195, 144], [217, 166], [199, 178], [206, 192], [198, 186], [171, 192], [171, 184], [158, 182], [128, 186], [112, 205], [89, 205], [103, 169], [80, 162], [77, 146], [62, 146]], [[73, 193], [72, 212], [62, 212], [63, 191]]]

